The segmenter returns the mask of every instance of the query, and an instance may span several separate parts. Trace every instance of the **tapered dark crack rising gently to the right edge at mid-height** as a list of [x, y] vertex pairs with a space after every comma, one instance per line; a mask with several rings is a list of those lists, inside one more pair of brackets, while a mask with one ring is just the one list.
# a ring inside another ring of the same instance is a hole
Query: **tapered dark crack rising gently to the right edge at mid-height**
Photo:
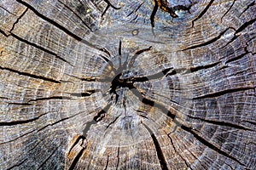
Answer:
[[240, 91], [246, 91], [249, 89], [254, 89], [255, 87], [245, 87], [245, 88], [230, 88], [230, 89], [225, 89], [223, 91], [211, 93], [211, 94], [204, 94], [192, 99], [208, 99], [208, 98], [217, 98], [219, 96], [225, 95], [225, 94], [231, 94], [231, 93], [236, 93]]

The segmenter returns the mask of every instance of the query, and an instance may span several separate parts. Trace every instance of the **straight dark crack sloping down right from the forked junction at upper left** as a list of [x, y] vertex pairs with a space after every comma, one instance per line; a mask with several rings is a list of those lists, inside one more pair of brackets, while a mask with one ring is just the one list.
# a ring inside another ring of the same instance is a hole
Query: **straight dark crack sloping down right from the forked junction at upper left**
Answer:
[[[31, 45], [31, 46], [34, 47], [34, 48], [38, 48], [38, 49], [44, 51], [45, 53], [54, 55], [57, 59], [61, 59], [62, 61], [64, 61], [64, 62], [67, 63], [68, 65], [72, 65], [72, 64], [71, 64], [70, 62], [68, 62], [66, 59], [61, 58], [60, 56], [58, 56], [58, 55], [55, 54], [54, 52], [50, 51], [49, 49], [43, 48], [43, 47], [41, 47], [41, 46], [38, 46], [38, 44], [36, 44], [36, 43], [29, 42], [29, 41], [27, 41], [26, 39], [23, 39], [23, 38], [21, 38], [21, 37], [18, 37], [17, 35], [15, 35], [15, 34], [12, 33], [12, 32], [10, 33], [10, 35], [11, 35], [12, 37], [15, 37], [15, 38], [16, 38], [17, 40], [19, 40], [20, 42], [25, 42], [26, 44]], [[74, 65], [72, 65], [72, 66], [74, 66]]]

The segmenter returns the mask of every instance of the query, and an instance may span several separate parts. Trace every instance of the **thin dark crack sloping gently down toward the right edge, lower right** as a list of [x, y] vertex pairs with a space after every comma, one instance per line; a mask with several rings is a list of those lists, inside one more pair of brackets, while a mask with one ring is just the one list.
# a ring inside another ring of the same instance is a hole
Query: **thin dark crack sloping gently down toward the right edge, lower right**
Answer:
[[201, 120], [202, 122], [212, 123], [212, 124], [218, 125], [218, 126], [226, 126], [226, 127], [232, 127], [232, 128], [237, 128], [237, 129], [241, 129], [241, 130], [253, 131], [252, 129], [250, 129], [248, 127], [243, 127], [243, 126], [235, 124], [233, 122], [224, 122], [224, 121], [217, 121], [217, 120], [207, 120], [205, 118], [195, 117], [195, 116], [188, 116], [188, 117], [191, 118], [191, 119]]

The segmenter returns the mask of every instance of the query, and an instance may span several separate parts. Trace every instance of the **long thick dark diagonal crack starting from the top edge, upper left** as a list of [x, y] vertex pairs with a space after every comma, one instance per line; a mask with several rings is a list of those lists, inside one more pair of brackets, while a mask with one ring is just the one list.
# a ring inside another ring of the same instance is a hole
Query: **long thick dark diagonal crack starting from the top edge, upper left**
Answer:
[[38, 17], [42, 18], [43, 20], [48, 21], [50, 24], [52, 24], [53, 26], [59, 28], [61, 31], [66, 32], [68, 36], [73, 37], [74, 39], [76, 39], [76, 40], [79, 41], [79, 42], [83, 42], [84, 44], [86, 44], [86, 45], [89, 46], [90, 48], [96, 48], [97, 50], [99, 50], [99, 48], [97, 48], [96, 45], [93, 45], [93, 44], [91, 44], [90, 42], [84, 40], [83, 38], [81, 38], [81, 37], [75, 35], [73, 32], [67, 30], [67, 28], [65, 28], [64, 26], [61, 26], [60, 24], [58, 24], [58, 23], [55, 22], [54, 20], [51, 20], [51, 19], [49, 19], [48, 17], [44, 16], [44, 14], [40, 14], [40, 13], [37, 11], [37, 9], [36, 9], [36, 8], [33, 8], [30, 4], [28, 4], [28, 3], [26, 3], [26, 2], [24, 2], [24, 1], [22, 1], [22, 0], [16, 0], [16, 1], [17, 1], [18, 3], [21, 3], [21, 4], [25, 5], [27, 8], [31, 9], [34, 14], [37, 14], [37, 15], [38, 15]]

